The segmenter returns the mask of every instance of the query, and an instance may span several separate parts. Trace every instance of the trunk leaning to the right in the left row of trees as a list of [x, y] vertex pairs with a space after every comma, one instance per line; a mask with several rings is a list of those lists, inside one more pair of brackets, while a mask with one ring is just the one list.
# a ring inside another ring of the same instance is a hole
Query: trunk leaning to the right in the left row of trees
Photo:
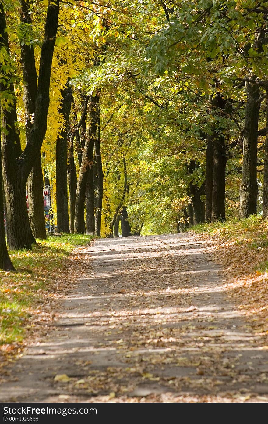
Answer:
[[[87, 102], [86, 102], [87, 106]], [[84, 109], [86, 113], [86, 108]], [[79, 177], [77, 181], [77, 190], [75, 196], [75, 233], [85, 232], [85, 198], [86, 188], [88, 184], [88, 174], [93, 166], [93, 149], [94, 142], [97, 137], [99, 126], [99, 95], [90, 96], [89, 100], [89, 115], [90, 115], [90, 131], [86, 137], [82, 162], [80, 166]], [[82, 119], [80, 123], [82, 123]], [[89, 229], [89, 228], [88, 228]]]

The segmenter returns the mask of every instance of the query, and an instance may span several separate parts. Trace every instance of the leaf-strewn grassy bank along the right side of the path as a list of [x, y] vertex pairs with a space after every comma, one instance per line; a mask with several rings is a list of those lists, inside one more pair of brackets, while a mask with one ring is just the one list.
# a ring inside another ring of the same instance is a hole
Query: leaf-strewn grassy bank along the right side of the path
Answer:
[[214, 260], [222, 265], [227, 293], [254, 324], [268, 333], [268, 222], [251, 215], [226, 223], [199, 224], [191, 229], [206, 240]]

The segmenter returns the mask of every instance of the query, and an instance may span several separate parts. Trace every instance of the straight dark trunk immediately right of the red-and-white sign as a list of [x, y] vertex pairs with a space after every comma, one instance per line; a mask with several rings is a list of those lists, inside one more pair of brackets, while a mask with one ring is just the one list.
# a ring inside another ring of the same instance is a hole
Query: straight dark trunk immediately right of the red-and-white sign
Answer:
[[[67, 83], [69, 85], [69, 82]], [[69, 116], [72, 105], [72, 88], [66, 86], [62, 91], [61, 109], [64, 116], [64, 127], [56, 142], [56, 201], [57, 201], [57, 232], [69, 233], [68, 185], [67, 185], [67, 145]]]

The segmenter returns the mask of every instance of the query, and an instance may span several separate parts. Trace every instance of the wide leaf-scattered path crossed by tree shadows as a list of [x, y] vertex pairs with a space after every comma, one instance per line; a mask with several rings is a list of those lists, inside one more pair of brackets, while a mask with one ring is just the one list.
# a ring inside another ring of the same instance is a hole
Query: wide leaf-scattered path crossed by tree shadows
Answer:
[[268, 402], [267, 346], [205, 248], [187, 233], [96, 240], [91, 274], [0, 401]]

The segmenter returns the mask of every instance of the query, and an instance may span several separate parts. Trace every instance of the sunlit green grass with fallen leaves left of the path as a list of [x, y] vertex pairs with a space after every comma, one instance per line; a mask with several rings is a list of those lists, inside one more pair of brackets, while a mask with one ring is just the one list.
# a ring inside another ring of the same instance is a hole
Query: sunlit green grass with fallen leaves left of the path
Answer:
[[44, 318], [43, 304], [49, 303], [57, 281], [69, 267], [69, 254], [92, 237], [63, 234], [37, 240], [32, 251], [9, 251], [17, 272], [0, 271], [0, 345], [20, 343], [25, 330], [35, 324], [32, 316]]

